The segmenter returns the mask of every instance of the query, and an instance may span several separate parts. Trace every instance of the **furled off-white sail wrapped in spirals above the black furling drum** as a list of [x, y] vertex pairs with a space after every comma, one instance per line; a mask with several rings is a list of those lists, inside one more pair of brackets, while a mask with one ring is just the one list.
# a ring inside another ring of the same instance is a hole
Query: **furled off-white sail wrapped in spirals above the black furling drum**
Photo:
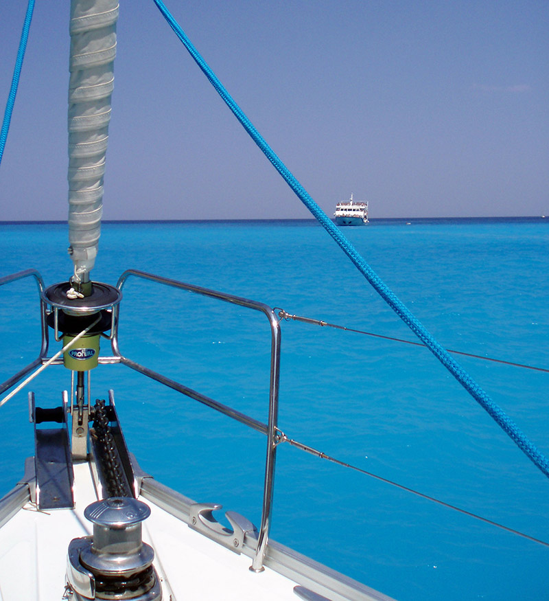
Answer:
[[75, 286], [89, 280], [101, 231], [117, 17], [117, 0], [71, 0], [69, 253]]

